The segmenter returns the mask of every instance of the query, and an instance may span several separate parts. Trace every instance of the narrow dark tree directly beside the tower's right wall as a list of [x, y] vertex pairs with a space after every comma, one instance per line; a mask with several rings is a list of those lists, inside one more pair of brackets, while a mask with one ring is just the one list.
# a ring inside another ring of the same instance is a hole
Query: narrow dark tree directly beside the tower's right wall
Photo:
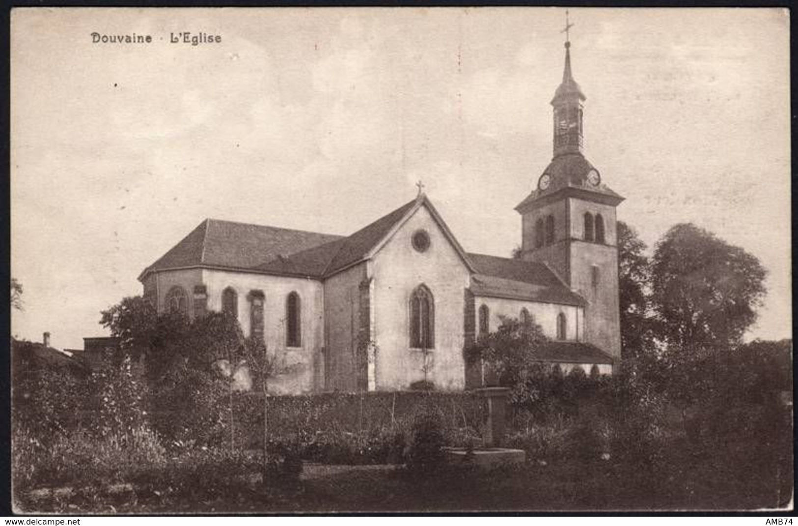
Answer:
[[650, 262], [638, 232], [618, 221], [618, 295], [621, 306], [621, 349], [634, 357], [651, 343], [649, 312]]

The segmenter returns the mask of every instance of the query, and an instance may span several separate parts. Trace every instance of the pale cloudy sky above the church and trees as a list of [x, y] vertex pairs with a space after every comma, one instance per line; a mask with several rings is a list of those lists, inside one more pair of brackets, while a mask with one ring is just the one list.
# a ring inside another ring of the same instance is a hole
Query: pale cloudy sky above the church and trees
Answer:
[[[693, 222], [768, 270], [748, 338], [792, 330], [789, 19], [570, 10], [586, 156], [654, 247]], [[562, 8], [16, 9], [12, 334], [81, 349], [207, 217], [349, 234], [417, 180], [467, 251], [509, 256], [551, 160]], [[221, 42], [171, 43], [170, 34]], [[151, 35], [150, 44], [91, 34]]]

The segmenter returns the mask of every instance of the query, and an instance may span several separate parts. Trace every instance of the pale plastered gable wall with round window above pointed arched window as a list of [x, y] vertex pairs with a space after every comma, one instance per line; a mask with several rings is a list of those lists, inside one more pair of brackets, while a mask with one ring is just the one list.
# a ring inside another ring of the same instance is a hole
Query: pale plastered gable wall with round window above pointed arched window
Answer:
[[[422, 228], [431, 243], [427, 251], [418, 252], [411, 237]], [[438, 389], [462, 389], [464, 288], [470, 274], [429, 211], [419, 208], [370, 264], [377, 390], [407, 389], [424, 379], [423, 354], [410, 349], [409, 330], [410, 296], [421, 283], [432, 291], [435, 305], [435, 349], [430, 356], [434, 365], [428, 379]]]

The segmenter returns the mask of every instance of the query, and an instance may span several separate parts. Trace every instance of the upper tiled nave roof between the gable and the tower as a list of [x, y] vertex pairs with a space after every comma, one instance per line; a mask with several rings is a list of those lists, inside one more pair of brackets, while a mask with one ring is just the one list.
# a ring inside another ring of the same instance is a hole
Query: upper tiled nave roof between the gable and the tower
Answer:
[[468, 259], [479, 272], [471, 280], [471, 291], [475, 295], [578, 306], [586, 304], [582, 296], [566, 287], [543, 263], [484, 254], [468, 254]]

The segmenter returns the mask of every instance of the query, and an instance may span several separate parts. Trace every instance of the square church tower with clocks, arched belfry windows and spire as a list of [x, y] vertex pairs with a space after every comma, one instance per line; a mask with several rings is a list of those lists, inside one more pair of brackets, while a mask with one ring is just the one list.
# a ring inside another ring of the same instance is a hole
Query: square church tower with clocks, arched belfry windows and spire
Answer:
[[620, 358], [615, 208], [623, 198], [603, 182], [599, 170], [584, 156], [587, 97], [571, 71], [573, 24], [567, 17], [566, 11], [563, 81], [551, 100], [554, 156], [535, 188], [516, 207], [521, 215], [522, 257], [546, 263], [587, 299], [585, 341]]

